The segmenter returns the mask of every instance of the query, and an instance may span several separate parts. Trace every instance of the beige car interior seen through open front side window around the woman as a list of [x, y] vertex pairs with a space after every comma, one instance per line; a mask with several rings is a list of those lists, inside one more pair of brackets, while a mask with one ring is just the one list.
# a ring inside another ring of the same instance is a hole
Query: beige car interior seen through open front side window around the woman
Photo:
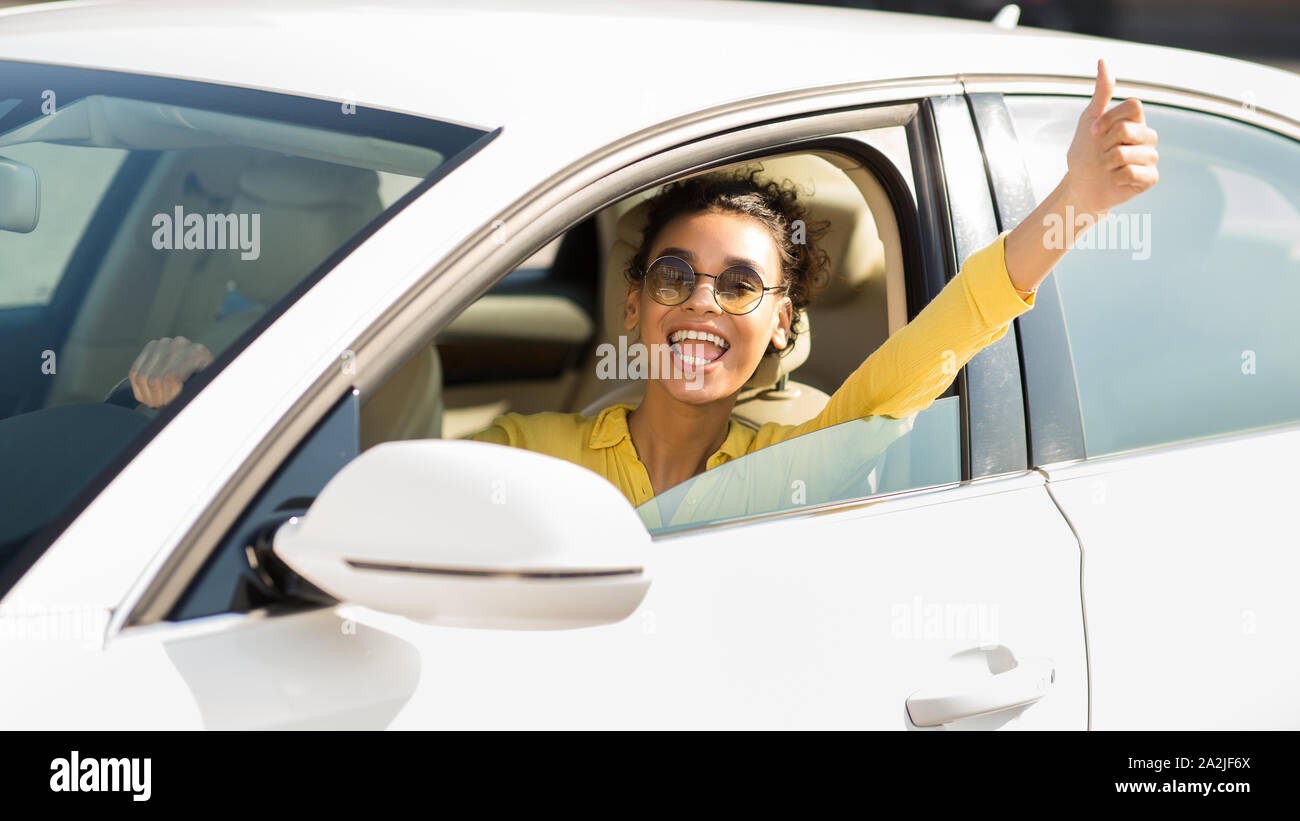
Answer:
[[[829, 222], [823, 247], [832, 275], [798, 318], [806, 333], [796, 347], [764, 359], [742, 391], [734, 417], [753, 427], [816, 416], [844, 378], [906, 322], [898, 225], [871, 171], [818, 151], [764, 157], [759, 177], [793, 181], [809, 218]], [[644, 383], [601, 379], [595, 365], [598, 347], [616, 347], [625, 334], [623, 270], [656, 191], [615, 203], [554, 239], [450, 322], [364, 401], [361, 447], [463, 438], [506, 412], [590, 416], [640, 401]], [[400, 400], [410, 392], [433, 400], [415, 408]]]

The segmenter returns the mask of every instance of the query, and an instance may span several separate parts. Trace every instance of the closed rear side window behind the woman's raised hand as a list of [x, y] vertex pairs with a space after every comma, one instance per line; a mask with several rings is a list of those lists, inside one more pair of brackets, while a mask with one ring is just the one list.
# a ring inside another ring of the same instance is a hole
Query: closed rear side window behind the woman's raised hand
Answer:
[[[1078, 99], [1009, 96], [1041, 200]], [[1160, 182], [1056, 268], [1086, 452], [1101, 456], [1300, 420], [1300, 144], [1145, 105]]]

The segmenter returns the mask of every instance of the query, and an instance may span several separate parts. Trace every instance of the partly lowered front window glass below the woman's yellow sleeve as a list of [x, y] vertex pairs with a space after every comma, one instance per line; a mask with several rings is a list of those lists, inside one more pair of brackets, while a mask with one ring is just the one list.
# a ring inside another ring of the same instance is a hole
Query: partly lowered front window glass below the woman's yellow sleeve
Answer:
[[958, 398], [896, 420], [868, 416], [706, 470], [637, 507], [650, 533], [961, 481]]

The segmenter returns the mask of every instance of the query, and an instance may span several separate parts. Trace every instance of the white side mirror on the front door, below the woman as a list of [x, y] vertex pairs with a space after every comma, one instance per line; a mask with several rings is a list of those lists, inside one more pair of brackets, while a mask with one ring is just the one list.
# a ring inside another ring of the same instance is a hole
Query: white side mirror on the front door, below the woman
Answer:
[[601, 475], [460, 439], [378, 444], [344, 465], [276, 556], [339, 601], [416, 621], [554, 630], [621, 621], [645, 598], [650, 534]]

